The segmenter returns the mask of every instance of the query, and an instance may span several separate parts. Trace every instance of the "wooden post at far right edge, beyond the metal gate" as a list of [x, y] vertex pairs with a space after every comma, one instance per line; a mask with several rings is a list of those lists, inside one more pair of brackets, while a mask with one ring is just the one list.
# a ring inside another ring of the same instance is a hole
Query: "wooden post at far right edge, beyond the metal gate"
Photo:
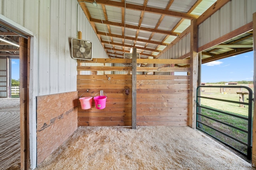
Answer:
[[254, 106], [253, 106], [253, 120], [252, 120], [252, 164], [256, 164], [256, 12], [252, 16], [252, 29], [253, 34], [253, 63], [254, 63], [254, 74], [253, 74], [253, 87], [254, 87]]

